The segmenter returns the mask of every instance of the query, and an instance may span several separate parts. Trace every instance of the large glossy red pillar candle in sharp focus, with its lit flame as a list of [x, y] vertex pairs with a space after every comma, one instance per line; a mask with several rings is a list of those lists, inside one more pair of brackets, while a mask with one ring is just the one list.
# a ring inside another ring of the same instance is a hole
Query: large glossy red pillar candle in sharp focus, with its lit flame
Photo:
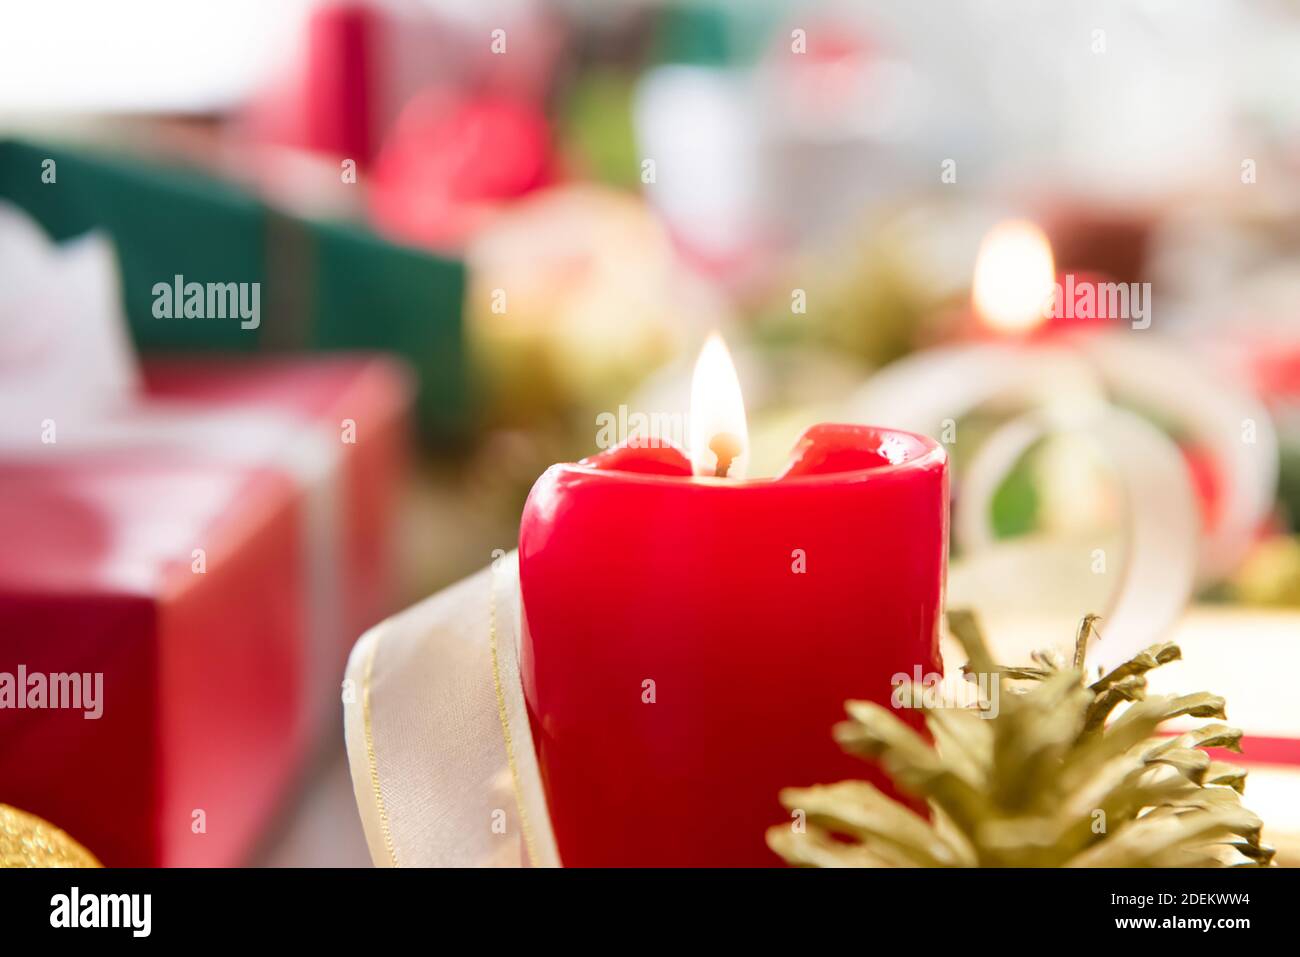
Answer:
[[887, 787], [832, 740], [844, 702], [941, 667], [944, 450], [816, 425], [781, 475], [746, 480], [720, 339], [692, 393], [689, 458], [554, 465], [524, 510], [524, 698], [568, 866], [776, 863], [783, 787]]

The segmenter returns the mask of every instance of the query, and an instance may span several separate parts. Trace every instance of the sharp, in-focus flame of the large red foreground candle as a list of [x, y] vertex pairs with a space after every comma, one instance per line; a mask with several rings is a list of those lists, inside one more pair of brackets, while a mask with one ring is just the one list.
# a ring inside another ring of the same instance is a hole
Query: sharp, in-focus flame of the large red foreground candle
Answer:
[[727, 478], [744, 478], [749, 468], [745, 399], [718, 333], [699, 350], [690, 381], [690, 465], [696, 475]]

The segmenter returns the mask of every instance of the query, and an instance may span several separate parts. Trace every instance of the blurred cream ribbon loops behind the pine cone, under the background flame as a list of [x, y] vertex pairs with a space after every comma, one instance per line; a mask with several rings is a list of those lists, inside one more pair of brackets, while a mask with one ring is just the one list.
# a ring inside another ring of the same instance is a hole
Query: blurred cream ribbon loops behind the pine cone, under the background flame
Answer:
[[[1277, 441], [1258, 402], [1166, 345], [1131, 339], [931, 350], [887, 367], [849, 403], [857, 421], [935, 436], [942, 436], [945, 420], [956, 424], [987, 403], [1032, 410], [996, 432], [962, 476], [954, 533], [974, 557], [993, 544], [993, 494], [1036, 442], [1067, 432], [1106, 454], [1126, 503], [1127, 549], [1106, 610], [1106, 641], [1089, 653], [1102, 663], [1150, 644], [1173, 625], [1195, 581], [1213, 580], [1240, 560], [1271, 507], [1277, 480]], [[1178, 447], [1138, 415], [1110, 406], [1108, 393], [1161, 415], [1212, 452], [1223, 476], [1222, 515], [1204, 536]], [[1254, 428], [1251, 446], [1243, 442], [1245, 423]]]

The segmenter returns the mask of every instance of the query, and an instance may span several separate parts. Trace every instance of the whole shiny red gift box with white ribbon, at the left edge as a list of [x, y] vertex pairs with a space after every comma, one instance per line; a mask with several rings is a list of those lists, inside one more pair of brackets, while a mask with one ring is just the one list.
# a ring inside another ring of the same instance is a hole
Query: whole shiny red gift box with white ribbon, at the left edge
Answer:
[[0, 679], [103, 675], [99, 718], [0, 707], [0, 800], [108, 865], [238, 863], [390, 610], [410, 389], [378, 359], [146, 380], [0, 458]]

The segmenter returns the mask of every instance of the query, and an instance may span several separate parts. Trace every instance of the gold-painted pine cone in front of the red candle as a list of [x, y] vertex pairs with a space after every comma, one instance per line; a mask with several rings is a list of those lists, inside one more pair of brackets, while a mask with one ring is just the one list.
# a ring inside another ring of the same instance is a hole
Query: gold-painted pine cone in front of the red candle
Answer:
[[[835, 728], [845, 750], [926, 798], [930, 819], [866, 781], [786, 788], [794, 822], [770, 828], [768, 846], [811, 867], [1268, 866], [1264, 824], [1240, 801], [1245, 771], [1204, 750], [1239, 752], [1242, 732], [1210, 723], [1156, 733], [1180, 715], [1222, 719], [1223, 700], [1147, 697], [1145, 674], [1180, 657], [1173, 642], [1087, 684], [1095, 622], [1080, 624], [1071, 662], [1039, 653], [1009, 668], [993, 663], [970, 612], [949, 614], [967, 677], [997, 681], [996, 714], [931, 698], [931, 744], [888, 709], [850, 701], [850, 720]], [[1108, 723], [1121, 702], [1130, 706]]]

